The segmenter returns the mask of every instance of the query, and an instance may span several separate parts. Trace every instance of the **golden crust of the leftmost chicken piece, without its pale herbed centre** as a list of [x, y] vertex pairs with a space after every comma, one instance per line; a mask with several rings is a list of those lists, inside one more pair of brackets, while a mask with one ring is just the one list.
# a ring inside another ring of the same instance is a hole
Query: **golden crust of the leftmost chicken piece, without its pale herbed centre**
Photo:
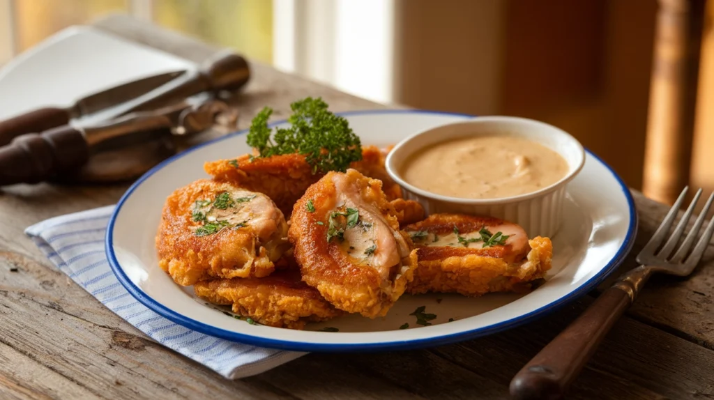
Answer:
[[[201, 226], [191, 215], [196, 200], [212, 199], [235, 189], [228, 183], [197, 180], [166, 199], [156, 235], [156, 250], [159, 266], [176, 283], [188, 286], [213, 277], [264, 277], [273, 272], [271, 259], [277, 260], [281, 252], [272, 241], [261, 243], [251, 225], [196, 236], [196, 228]], [[274, 236], [284, 237], [287, 224], [281, 213], [276, 225]]]

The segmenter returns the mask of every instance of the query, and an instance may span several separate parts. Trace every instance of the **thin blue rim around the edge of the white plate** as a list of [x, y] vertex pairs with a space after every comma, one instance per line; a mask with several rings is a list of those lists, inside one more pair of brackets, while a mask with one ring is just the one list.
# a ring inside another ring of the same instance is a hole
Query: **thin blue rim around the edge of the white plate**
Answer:
[[[421, 114], [434, 114], [434, 115], [443, 115], [443, 116], [463, 116], [463, 117], [471, 117], [468, 114], [463, 114], [463, 113], [445, 113], [441, 111], [425, 111], [425, 110], [363, 110], [363, 111], [348, 111], [344, 113], [338, 113], [338, 115], [341, 116], [353, 116], [353, 115], [360, 115], [360, 114], [370, 114], [370, 113], [421, 113]], [[287, 120], [281, 120], [277, 121], [275, 123], [271, 123], [271, 126], [273, 125], [278, 125], [280, 123], [285, 123]], [[251, 336], [251, 335], [246, 335], [246, 334], [239, 334], [237, 332], [231, 332], [225, 329], [220, 329], [216, 327], [212, 327], [211, 325], [204, 324], [203, 322], [198, 322], [195, 319], [191, 319], [188, 317], [184, 317], [183, 315], [179, 314], [178, 312], [174, 312], [171, 309], [168, 309], [164, 307], [164, 305], [159, 304], [159, 302], [156, 302], [154, 299], [151, 297], [148, 297], [144, 294], [144, 292], [139, 289], [139, 287], [136, 287], [134, 282], [131, 282], [129, 280], [129, 277], [126, 276], [124, 273], [124, 270], [119, 267], [119, 262], [116, 260], [116, 255], [114, 254], [114, 244], [113, 244], [113, 232], [114, 232], [114, 222], [116, 221], [116, 217], [119, 215], [119, 211], [121, 211], [121, 207], [124, 205], [124, 202], [126, 201], [129, 196], [131, 196], [131, 193], [136, 190], [136, 188], [141, 185], [141, 183], [144, 182], [147, 178], [149, 178], [151, 175], [154, 175], [158, 170], [161, 170], [161, 168], [164, 168], [165, 165], [168, 165], [174, 160], [177, 160], [178, 158], [182, 158], [188, 153], [192, 153], [193, 151], [196, 151], [203, 146], [209, 145], [211, 143], [216, 143], [221, 140], [225, 140], [226, 138], [232, 138], [236, 135], [242, 135], [243, 133], [247, 133], [248, 129], [245, 130], [240, 130], [235, 133], [231, 133], [229, 135], [222, 136], [221, 138], [216, 138], [213, 140], [209, 140], [206, 143], [201, 143], [200, 145], [196, 145], [193, 148], [190, 148], [186, 151], [183, 151], [183, 153], [178, 153], [171, 158], [168, 158], [164, 160], [162, 163], [159, 163], [159, 165], [156, 165], [154, 168], [151, 168], [147, 173], [141, 176], [139, 180], [136, 180], [136, 182], [131, 185], [131, 187], [126, 190], [126, 193], [124, 193], [123, 196], [121, 196], [121, 199], [119, 199], [119, 202], [116, 204], [116, 207], [114, 208], [114, 212], [112, 212], [111, 217], [109, 219], [109, 225], [107, 226], [106, 229], [106, 238], [104, 242], [104, 247], [106, 251], [106, 256], [109, 260], [109, 265], [111, 266], [111, 270], [114, 271], [114, 275], [116, 275], [116, 278], [121, 282], [121, 284], [126, 288], [126, 290], [131, 293], [134, 298], [136, 298], [141, 304], [144, 304], [146, 307], [151, 309], [152, 311], [156, 312], [156, 314], [161, 315], [162, 317], [165, 317], [166, 319], [171, 320], [172, 322], [176, 322], [176, 324], [183, 325], [183, 327], [187, 327], [188, 329], [193, 329], [196, 332], [201, 332], [203, 334], [208, 334], [213, 337], [218, 337], [221, 339], [227, 339], [231, 340], [233, 342], [241, 342], [241, 343], [246, 343], [246, 344], [252, 344], [255, 346], [260, 346], [260, 347], [270, 347], [273, 349], [284, 349], [284, 350], [292, 350], [292, 351], [298, 351], [298, 352], [356, 352], [356, 351], [370, 351], [370, 350], [381, 350], [381, 349], [389, 349], [389, 350], [398, 350], [398, 349], [418, 349], [422, 347], [433, 347], [433, 346], [439, 346], [443, 344], [451, 344], [455, 342], [461, 342], [466, 339], [473, 339], [476, 337], [481, 337], [481, 336], [486, 336], [488, 334], [493, 334], [496, 332], [501, 332], [506, 329], [511, 329], [513, 327], [517, 327], [518, 325], [521, 324], [526, 324], [528, 322], [533, 321], [534, 319], [537, 319], [539, 317], [543, 317], [546, 314], [549, 314], [550, 312], [554, 312], [557, 309], [560, 309], [560, 307], [563, 307], [563, 305], [567, 304], [568, 302], [573, 301], [574, 299], [582, 296], [583, 294], [586, 294], [589, 292], [591, 289], [594, 289], [600, 282], [603, 282], [610, 273], [612, 273], [622, 262], [625, 260], [625, 256], [628, 255], [630, 250], [632, 249], [634, 245], [634, 239], [635, 235], [637, 234], [637, 227], [638, 227], [638, 215], [637, 211], [635, 208], [635, 200], [632, 197], [632, 194], [630, 193], [630, 190], [628, 189], [627, 185], [623, 182], [622, 178], [615, 173], [613, 168], [610, 167], [607, 163], [605, 163], [601, 158], [599, 158], [597, 155], [592, 153], [590, 150], [587, 148], [585, 149], [585, 152], [588, 153], [589, 155], [593, 156], [598, 162], [600, 162], [602, 165], [605, 166], [605, 168], [608, 169], [608, 171], [613, 175], [615, 180], [620, 185], [620, 188], [623, 190], [623, 195], [625, 195], [625, 198], [627, 199], [628, 202], [628, 207], [629, 207], [629, 212], [630, 212], [630, 224], [628, 226], [628, 232], [625, 237], [625, 241], [623, 242], [623, 245], [620, 247], [618, 252], [615, 253], [615, 256], [608, 262], [607, 265], [603, 268], [603, 270], [600, 270], [597, 275], [594, 277], [590, 278], [588, 282], [585, 282], [585, 284], [581, 285], [577, 289], [573, 290], [573, 292], [570, 292], [566, 294], [563, 297], [560, 297], [555, 302], [552, 302], [544, 307], [540, 307], [539, 309], [535, 309], [532, 312], [529, 312], [528, 314], [523, 314], [520, 317], [512, 318], [507, 321], [499, 322], [497, 324], [492, 324], [486, 327], [481, 327], [481, 328], [476, 328], [472, 329], [470, 331], [466, 332], [459, 332], [456, 334], [445, 334], [442, 336], [438, 337], [430, 337], [430, 338], [425, 338], [425, 339], [413, 339], [409, 340], [408, 342], [381, 342], [381, 343], [368, 343], [368, 344], [311, 344], [311, 343], [296, 343], [296, 342], [288, 342], [288, 341], [283, 341], [283, 340], [276, 340], [276, 339], [266, 339], [263, 337], [257, 337], [257, 336]]]

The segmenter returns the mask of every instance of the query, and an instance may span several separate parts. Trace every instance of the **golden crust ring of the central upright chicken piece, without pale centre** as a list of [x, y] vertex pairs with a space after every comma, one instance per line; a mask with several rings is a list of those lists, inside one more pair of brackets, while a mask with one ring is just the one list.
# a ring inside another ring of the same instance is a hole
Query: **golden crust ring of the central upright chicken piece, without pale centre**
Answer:
[[[359, 312], [365, 317], [383, 316], [411, 281], [417, 265], [416, 250], [401, 259], [395, 266], [394, 277], [386, 281], [375, 267], [343, 252], [335, 240], [328, 242], [328, 215], [336, 206], [338, 197], [333, 183], [336, 174], [328, 173], [296, 202], [288, 230], [293, 254], [301, 266], [303, 281], [316, 287], [335, 307], [347, 312]], [[379, 210], [389, 229], [411, 243], [398, 231], [396, 211], [382, 192], [381, 181], [366, 178], [356, 170], [348, 170], [343, 175], [353, 180], [360, 201]], [[314, 212], [308, 211], [308, 200], [312, 201]]]

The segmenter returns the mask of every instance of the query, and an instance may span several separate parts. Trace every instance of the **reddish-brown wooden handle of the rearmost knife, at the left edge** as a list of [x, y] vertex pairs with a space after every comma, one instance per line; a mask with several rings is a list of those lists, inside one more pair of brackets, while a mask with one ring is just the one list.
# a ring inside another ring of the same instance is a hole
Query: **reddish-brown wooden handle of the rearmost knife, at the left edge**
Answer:
[[70, 119], [64, 108], [39, 108], [29, 113], [0, 121], [0, 146], [10, 143], [24, 133], [42, 132], [56, 126], [66, 125]]

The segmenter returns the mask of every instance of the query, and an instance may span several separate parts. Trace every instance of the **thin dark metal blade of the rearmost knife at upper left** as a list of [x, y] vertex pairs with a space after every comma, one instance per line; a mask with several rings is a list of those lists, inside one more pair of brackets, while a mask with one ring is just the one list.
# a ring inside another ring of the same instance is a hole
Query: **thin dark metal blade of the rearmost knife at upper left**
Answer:
[[130, 101], [174, 80], [183, 73], [186, 73], [186, 70], [159, 73], [93, 93], [76, 101], [72, 109], [74, 117], [88, 116], [105, 108]]

